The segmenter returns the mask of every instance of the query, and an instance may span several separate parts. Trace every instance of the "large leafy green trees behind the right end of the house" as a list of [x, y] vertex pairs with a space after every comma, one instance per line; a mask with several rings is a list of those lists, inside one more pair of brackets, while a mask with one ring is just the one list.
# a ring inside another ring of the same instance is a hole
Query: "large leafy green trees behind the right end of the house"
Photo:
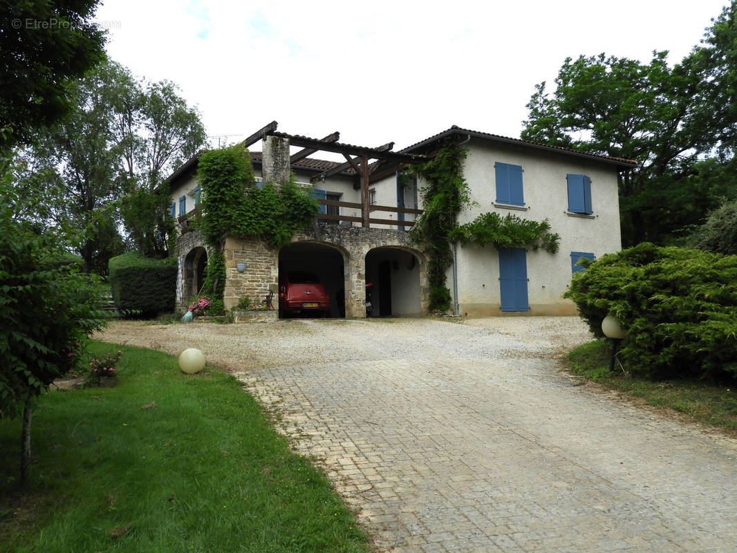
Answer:
[[567, 58], [549, 94], [540, 83], [522, 138], [638, 162], [620, 183], [625, 244], [664, 243], [737, 196], [736, 4], [670, 66], [604, 54]]

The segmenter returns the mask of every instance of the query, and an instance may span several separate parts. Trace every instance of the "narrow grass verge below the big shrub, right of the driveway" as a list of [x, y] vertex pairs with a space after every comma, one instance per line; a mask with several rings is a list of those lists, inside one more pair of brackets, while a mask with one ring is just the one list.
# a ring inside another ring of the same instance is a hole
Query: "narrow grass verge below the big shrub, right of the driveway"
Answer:
[[[593, 380], [625, 397], [677, 414], [690, 422], [711, 425], [737, 437], [737, 383], [713, 384], [705, 380], [643, 380], [615, 368], [609, 372], [609, 342], [591, 341], [568, 355], [576, 375]], [[616, 367], [616, 365], [615, 365]]]

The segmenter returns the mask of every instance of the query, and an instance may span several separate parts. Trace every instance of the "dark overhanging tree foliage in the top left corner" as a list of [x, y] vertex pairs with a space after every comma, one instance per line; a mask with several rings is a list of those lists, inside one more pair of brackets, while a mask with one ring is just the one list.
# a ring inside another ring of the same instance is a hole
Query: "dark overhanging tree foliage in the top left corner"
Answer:
[[0, 0], [0, 150], [32, 142], [71, 108], [69, 85], [105, 57], [99, 0]]

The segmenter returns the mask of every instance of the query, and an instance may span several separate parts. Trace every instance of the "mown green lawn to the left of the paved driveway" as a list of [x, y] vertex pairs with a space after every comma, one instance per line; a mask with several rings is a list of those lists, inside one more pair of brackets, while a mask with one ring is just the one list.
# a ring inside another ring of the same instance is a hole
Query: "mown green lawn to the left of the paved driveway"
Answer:
[[41, 398], [27, 490], [16, 481], [20, 423], [0, 421], [0, 550], [371, 551], [326, 478], [237, 380], [119, 349], [116, 388]]

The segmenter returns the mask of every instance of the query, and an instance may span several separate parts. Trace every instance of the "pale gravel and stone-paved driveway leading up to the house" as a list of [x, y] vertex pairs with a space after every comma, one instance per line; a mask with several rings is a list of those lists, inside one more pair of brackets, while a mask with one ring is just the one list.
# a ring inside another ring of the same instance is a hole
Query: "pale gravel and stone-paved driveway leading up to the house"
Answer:
[[283, 414], [380, 549], [734, 552], [737, 441], [559, 372], [573, 317], [142, 326], [198, 347]]

